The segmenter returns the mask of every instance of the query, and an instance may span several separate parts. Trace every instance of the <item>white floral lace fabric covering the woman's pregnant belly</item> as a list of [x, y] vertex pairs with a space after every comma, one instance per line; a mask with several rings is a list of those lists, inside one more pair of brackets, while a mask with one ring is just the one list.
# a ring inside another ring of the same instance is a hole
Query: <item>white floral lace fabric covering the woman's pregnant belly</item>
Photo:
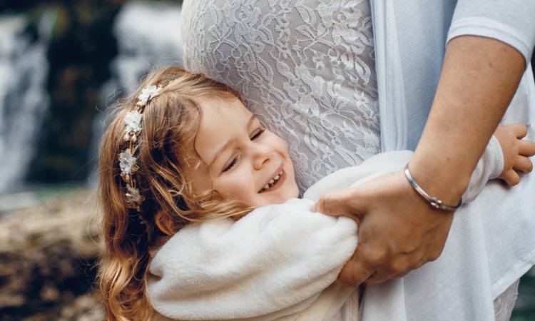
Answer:
[[242, 93], [301, 189], [379, 153], [369, 1], [186, 0], [182, 16], [186, 68]]

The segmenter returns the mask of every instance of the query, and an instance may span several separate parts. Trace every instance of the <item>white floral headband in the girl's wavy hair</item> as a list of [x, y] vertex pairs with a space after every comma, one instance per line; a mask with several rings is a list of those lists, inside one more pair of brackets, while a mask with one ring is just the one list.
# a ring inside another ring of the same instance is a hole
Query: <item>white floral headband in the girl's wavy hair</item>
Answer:
[[139, 169], [135, 155], [139, 147], [137, 143], [138, 136], [143, 129], [141, 116], [143, 116], [143, 110], [147, 103], [158, 96], [162, 89], [163, 87], [155, 85], [143, 88], [133, 111], [127, 113], [123, 120], [126, 123], [123, 138], [128, 141], [128, 148], [119, 154], [119, 167], [121, 167], [121, 178], [126, 183], [126, 205], [128, 208], [134, 208], [138, 212], [141, 211], [140, 205], [145, 198], [139, 193], [139, 189], [136, 187], [136, 180], [132, 178], [132, 175]]

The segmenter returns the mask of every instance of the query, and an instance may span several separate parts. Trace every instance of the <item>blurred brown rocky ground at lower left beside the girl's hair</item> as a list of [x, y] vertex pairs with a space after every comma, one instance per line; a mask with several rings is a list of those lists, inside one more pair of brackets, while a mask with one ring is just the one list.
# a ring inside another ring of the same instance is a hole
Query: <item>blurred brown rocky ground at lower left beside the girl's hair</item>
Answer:
[[0, 320], [103, 320], [96, 204], [75, 190], [0, 217]]

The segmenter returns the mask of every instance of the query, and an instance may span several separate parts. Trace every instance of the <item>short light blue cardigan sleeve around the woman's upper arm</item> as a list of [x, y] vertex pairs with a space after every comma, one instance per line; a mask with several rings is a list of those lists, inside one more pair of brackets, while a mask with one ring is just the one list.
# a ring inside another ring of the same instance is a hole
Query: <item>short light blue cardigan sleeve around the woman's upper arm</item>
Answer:
[[502, 41], [531, 60], [535, 46], [535, 1], [459, 0], [447, 40], [484, 36]]

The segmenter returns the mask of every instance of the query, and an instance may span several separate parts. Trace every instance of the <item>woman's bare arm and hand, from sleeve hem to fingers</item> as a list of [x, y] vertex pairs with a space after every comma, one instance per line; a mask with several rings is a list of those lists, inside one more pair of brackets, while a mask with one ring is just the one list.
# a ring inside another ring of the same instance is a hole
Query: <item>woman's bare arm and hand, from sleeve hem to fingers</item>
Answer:
[[[494, 39], [449, 41], [428, 121], [409, 169], [430, 195], [455, 205], [524, 72], [524, 56]], [[453, 213], [432, 208], [404, 173], [325, 195], [316, 210], [359, 222], [359, 245], [342, 269], [348, 285], [382, 282], [438, 258]]]

